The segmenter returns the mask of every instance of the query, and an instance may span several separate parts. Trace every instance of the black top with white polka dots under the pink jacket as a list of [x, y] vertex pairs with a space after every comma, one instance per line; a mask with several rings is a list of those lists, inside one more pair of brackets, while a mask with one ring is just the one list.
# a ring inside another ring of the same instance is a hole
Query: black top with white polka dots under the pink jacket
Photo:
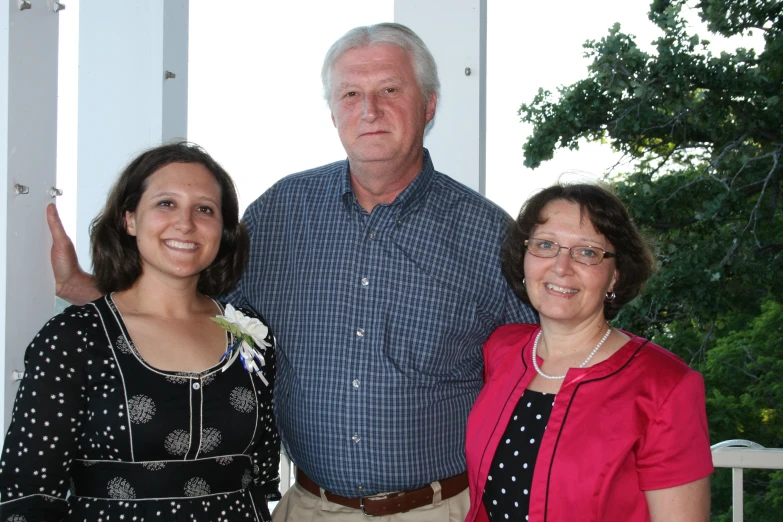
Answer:
[[527, 520], [538, 449], [555, 396], [525, 390], [500, 439], [484, 487], [484, 507], [492, 522]]

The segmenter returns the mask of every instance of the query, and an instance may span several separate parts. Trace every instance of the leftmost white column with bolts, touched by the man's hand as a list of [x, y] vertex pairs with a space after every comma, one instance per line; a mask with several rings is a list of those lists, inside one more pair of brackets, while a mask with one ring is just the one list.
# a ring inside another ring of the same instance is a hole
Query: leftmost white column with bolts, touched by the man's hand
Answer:
[[[53, 0], [9, 0], [0, 9], [0, 359], [3, 433], [16, 396], [14, 371], [54, 312], [49, 232], [57, 165], [57, 36]], [[22, 9], [23, 8], [23, 9]]]

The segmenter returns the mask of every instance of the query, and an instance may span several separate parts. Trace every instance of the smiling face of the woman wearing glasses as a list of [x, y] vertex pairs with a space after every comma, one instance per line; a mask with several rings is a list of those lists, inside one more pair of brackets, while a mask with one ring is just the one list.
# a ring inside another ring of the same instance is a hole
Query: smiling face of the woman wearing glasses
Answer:
[[[531, 238], [545, 239], [561, 247], [592, 246], [615, 252], [614, 245], [595, 230], [587, 214], [582, 216], [576, 203], [552, 201], [544, 207], [541, 217], [543, 224], [533, 228]], [[569, 254], [565, 248], [552, 258], [525, 252], [525, 287], [530, 303], [542, 321], [553, 320], [570, 326], [603, 321], [606, 292], [617, 281], [614, 258], [605, 258], [598, 265], [585, 265], [574, 261]]]

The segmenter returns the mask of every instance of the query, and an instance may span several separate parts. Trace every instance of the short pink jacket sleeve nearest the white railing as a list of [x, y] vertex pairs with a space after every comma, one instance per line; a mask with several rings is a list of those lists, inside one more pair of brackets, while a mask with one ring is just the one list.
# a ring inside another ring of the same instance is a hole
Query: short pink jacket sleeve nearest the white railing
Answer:
[[688, 371], [661, 405], [637, 447], [642, 490], [671, 488], [714, 471], [704, 381]]

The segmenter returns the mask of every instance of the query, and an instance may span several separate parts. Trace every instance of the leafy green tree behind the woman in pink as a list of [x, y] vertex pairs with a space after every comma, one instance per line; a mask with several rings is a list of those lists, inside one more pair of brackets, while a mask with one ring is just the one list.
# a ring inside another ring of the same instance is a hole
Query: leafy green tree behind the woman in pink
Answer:
[[[535, 168], [580, 140], [634, 160], [612, 181], [660, 270], [616, 324], [704, 373], [714, 442], [783, 447], [783, 2], [692, 3], [711, 33], [760, 33], [763, 49], [713, 55], [690, 33], [683, 0], [654, 0], [654, 52], [615, 25], [585, 43], [587, 78], [522, 105], [534, 126], [525, 163]], [[779, 520], [781, 480], [749, 475], [748, 519]], [[718, 474], [715, 520], [730, 520], [730, 501], [730, 480]]]

